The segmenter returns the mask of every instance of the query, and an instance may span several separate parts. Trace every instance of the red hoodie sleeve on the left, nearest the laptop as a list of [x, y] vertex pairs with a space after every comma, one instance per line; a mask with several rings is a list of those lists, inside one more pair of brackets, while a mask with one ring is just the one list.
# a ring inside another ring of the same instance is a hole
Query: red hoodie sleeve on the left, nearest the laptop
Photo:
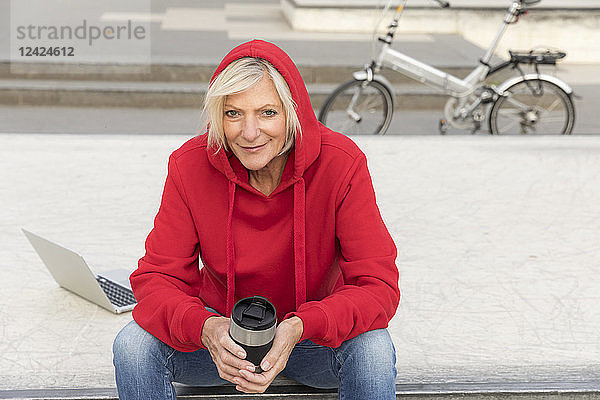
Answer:
[[179, 351], [204, 348], [207, 311], [199, 292], [198, 235], [187, 206], [177, 163], [169, 169], [146, 254], [130, 277], [138, 304], [133, 318], [147, 332]]

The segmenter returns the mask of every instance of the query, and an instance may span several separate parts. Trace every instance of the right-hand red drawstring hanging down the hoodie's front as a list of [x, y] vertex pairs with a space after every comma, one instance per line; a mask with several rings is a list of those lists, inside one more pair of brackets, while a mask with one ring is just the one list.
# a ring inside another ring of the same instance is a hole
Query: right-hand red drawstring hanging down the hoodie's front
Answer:
[[294, 184], [294, 280], [296, 310], [306, 303], [305, 184], [300, 178]]

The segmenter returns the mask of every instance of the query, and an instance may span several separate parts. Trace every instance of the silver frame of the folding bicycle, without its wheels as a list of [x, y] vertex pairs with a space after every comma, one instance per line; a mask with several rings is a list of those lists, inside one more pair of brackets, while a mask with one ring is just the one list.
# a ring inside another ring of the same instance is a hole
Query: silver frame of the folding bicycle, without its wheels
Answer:
[[391, 48], [392, 39], [398, 26], [398, 19], [403, 10], [403, 7], [400, 6], [396, 10], [394, 22], [390, 25], [387, 35], [384, 38], [380, 38], [380, 41], [384, 42], [384, 44], [377, 56], [377, 59], [373, 63], [374, 72], [379, 73], [379, 70], [382, 67], [391, 68], [421, 83], [442, 89], [450, 96], [469, 96], [476, 89], [477, 85], [487, 77], [491, 69], [489, 61], [491, 60], [492, 55], [498, 48], [504, 33], [508, 29], [508, 25], [518, 20], [522, 9], [523, 5], [519, 1], [513, 1], [504, 17], [496, 37], [492, 41], [490, 47], [487, 49], [485, 55], [480, 59], [481, 64], [477, 66], [465, 79], [460, 79], [452, 74], [448, 74], [440, 69], [422, 63]]

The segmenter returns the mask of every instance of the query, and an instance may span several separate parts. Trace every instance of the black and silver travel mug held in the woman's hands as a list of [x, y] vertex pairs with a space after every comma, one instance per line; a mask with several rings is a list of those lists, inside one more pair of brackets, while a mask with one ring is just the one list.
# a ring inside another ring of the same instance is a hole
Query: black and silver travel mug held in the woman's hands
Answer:
[[244, 348], [257, 373], [262, 372], [260, 362], [273, 345], [276, 325], [275, 306], [264, 297], [246, 297], [233, 307], [229, 336]]

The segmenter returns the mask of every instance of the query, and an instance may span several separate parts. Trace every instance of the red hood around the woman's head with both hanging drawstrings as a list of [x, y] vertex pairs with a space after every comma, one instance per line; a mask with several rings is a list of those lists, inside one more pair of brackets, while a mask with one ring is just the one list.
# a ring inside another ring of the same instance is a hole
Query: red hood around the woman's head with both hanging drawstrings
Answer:
[[[292, 59], [273, 43], [263, 40], [252, 40], [243, 43], [231, 50], [217, 67], [214, 79], [233, 61], [243, 57], [262, 58], [283, 76], [288, 84], [292, 98], [296, 104], [296, 113], [300, 121], [301, 134], [297, 135], [294, 147], [290, 150], [287, 163], [293, 162], [293, 174], [284, 180], [282, 177], [279, 186], [271, 195], [276, 195], [291, 185], [294, 186], [294, 265], [296, 309], [306, 302], [306, 255], [305, 255], [305, 183], [303, 174], [317, 159], [321, 149], [321, 129], [323, 125], [317, 121], [310, 98], [300, 76], [298, 68]], [[231, 315], [235, 299], [235, 249], [232, 237], [233, 207], [235, 203], [236, 187], [241, 186], [252, 190], [248, 183], [247, 174], [240, 169], [240, 163], [230, 151], [221, 148], [217, 153], [208, 151], [210, 163], [229, 180], [228, 217], [227, 217], [227, 316]], [[233, 165], [232, 165], [233, 164]]]

